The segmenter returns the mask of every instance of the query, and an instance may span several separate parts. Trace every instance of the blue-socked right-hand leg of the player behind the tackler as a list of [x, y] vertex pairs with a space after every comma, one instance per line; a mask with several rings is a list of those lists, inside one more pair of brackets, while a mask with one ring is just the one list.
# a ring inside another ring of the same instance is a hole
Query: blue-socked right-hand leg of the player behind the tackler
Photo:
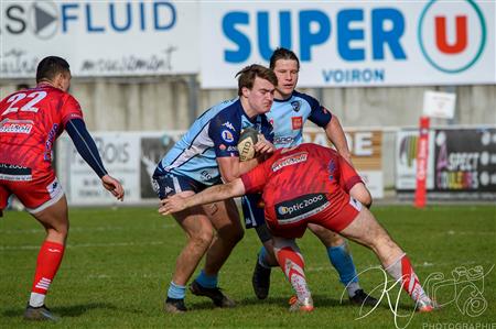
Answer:
[[336, 268], [341, 283], [346, 287], [349, 300], [356, 305], [376, 305], [378, 300], [365, 293], [359, 285], [346, 240], [319, 224], [309, 223], [308, 227], [324, 244], [331, 264]]

